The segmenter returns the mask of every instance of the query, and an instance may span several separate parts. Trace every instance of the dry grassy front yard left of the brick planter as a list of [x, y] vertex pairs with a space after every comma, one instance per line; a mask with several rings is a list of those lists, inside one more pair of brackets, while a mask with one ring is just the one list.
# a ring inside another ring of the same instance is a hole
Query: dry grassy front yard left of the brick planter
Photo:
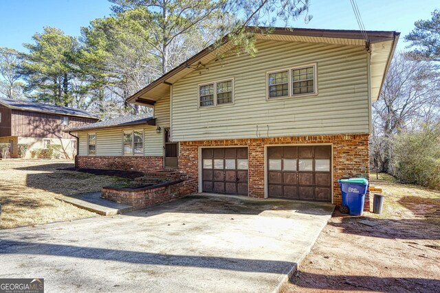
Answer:
[[102, 186], [123, 185], [128, 179], [62, 170], [73, 167], [65, 160], [0, 161], [0, 228], [12, 228], [95, 216], [56, 196], [99, 191]]

